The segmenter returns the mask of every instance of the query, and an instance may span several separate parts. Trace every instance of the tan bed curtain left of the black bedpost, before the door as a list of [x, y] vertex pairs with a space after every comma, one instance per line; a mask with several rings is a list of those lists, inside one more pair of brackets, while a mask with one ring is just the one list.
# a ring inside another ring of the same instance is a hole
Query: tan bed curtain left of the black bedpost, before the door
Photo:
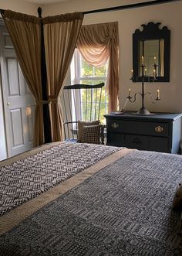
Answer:
[[34, 145], [42, 145], [43, 110], [41, 87], [41, 40], [39, 18], [19, 12], [5, 10], [5, 25], [11, 36], [26, 83], [35, 97]]

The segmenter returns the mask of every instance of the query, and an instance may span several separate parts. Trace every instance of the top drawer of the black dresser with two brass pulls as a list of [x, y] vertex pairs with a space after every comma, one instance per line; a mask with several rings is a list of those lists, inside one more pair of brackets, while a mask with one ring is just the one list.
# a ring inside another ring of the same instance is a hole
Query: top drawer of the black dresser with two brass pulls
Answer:
[[127, 134], [169, 136], [169, 124], [161, 122], [109, 120], [107, 122], [107, 129], [108, 131]]

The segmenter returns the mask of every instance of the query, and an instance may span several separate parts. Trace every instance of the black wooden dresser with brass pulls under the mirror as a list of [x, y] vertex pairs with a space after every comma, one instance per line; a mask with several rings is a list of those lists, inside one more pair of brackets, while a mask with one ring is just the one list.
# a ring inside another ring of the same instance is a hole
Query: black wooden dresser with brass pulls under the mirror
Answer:
[[179, 153], [182, 114], [106, 114], [107, 145]]

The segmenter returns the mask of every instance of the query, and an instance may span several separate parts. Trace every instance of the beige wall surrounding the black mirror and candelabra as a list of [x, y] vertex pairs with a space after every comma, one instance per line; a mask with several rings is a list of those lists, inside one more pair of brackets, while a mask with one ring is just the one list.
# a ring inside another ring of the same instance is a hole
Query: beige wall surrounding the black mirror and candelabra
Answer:
[[[143, 1], [120, 1], [120, 0], [71, 0], [55, 5], [42, 6], [43, 14], [56, 15], [59, 13], [87, 11], [92, 9], [102, 9], [106, 7], [130, 4]], [[158, 104], [151, 104], [147, 100], [147, 108], [150, 111], [171, 111], [182, 112], [182, 83], [180, 75], [182, 73], [182, 1], [166, 3], [162, 5], [153, 5], [149, 7], [128, 9], [117, 12], [100, 12], [92, 15], [86, 15], [84, 24], [99, 22], [119, 22], [120, 33], [120, 106], [126, 101], [128, 89], [131, 88], [132, 94], [140, 91], [140, 83], [130, 81], [130, 70], [132, 68], [132, 34], [140, 25], [147, 22], [161, 22], [162, 26], [167, 26], [171, 31], [171, 49], [170, 49], [170, 83], [150, 83], [146, 84], [146, 90], [157, 94], [160, 89], [161, 101]], [[140, 97], [136, 104], [126, 104], [128, 110], [137, 110], [140, 108]]]

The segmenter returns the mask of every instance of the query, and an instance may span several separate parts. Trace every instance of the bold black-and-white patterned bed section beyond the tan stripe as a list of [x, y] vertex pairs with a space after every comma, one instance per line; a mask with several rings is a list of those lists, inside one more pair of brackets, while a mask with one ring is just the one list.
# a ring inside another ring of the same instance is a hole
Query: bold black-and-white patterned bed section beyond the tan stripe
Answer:
[[120, 148], [59, 143], [0, 168], [0, 216]]

